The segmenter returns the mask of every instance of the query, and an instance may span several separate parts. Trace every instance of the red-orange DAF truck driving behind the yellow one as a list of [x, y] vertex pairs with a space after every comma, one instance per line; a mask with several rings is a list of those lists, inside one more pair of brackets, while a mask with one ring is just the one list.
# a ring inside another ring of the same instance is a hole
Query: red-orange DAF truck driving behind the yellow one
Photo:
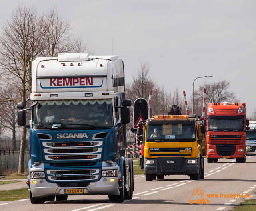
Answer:
[[245, 162], [246, 120], [245, 103], [208, 103], [207, 162], [219, 158], [236, 158]]

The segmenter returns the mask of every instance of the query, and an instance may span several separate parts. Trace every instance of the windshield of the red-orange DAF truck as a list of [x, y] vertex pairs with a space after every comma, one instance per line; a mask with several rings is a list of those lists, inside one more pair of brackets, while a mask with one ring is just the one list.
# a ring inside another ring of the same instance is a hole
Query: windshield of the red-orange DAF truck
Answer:
[[209, 131], [243, 131], [244, 119], [208, 119]]

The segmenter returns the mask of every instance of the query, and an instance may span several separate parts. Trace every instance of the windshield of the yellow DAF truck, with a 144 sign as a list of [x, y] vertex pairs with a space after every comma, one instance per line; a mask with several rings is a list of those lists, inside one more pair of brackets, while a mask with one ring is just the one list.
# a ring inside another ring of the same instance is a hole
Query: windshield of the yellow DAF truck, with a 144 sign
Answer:
[[147, 142], [191, 142], [196, 140], [194, 124], [147, 125]]

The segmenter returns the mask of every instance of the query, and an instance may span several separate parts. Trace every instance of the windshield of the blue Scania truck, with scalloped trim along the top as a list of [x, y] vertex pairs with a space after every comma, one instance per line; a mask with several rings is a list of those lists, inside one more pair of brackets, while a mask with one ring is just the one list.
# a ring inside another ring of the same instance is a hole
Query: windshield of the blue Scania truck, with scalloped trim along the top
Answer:
[[113, 126], [112, 99], [38, 101], [33, 128], [109, 128]]

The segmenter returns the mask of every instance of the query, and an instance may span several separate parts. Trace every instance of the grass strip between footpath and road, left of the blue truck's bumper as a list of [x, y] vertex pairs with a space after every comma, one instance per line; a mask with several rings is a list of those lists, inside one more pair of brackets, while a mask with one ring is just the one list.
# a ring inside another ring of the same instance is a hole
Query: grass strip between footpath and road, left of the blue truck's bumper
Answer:
[[14, 189], [10, 191], [0, 191], [0, 201], [14, 201], [30, 197], [28, 188]]

